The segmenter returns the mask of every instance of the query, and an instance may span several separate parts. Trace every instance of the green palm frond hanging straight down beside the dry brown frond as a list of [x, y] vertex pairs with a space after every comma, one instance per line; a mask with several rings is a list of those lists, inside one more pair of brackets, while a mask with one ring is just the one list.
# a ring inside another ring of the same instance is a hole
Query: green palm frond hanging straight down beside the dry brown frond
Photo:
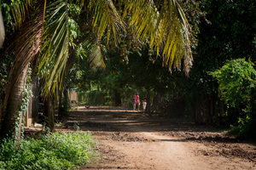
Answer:
[[[48, 3], [49, 17], [43, 36], [43, 51], [40, 57], [39, 71], [44, 70], [44, 94], [55, 93], [61, 84], [68, 57], [68, 13], [67, 1], [58, 0]], [[60, 86], [61, 87], [61, 86]]]

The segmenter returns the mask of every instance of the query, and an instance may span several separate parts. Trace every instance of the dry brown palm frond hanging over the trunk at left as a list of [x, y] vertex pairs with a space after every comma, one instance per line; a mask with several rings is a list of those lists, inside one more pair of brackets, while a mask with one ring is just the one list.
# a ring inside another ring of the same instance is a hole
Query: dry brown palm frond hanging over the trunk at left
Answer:
[[9, 80], [12, 80], [12, 84], [15, 83], [17, 77], [20, 77], [22, 70], [41, 49], [45, 10], [44, 0], [31, 4], [30, 7], [23, 10], [25, 11], [20, 9], [20, 14], [26, 14], [26, 19], [23, 20], [22, 25], [16, 32], [15, 41], [7, 49], [7, 51], [15, 54], [15, 61], [9, 73]]

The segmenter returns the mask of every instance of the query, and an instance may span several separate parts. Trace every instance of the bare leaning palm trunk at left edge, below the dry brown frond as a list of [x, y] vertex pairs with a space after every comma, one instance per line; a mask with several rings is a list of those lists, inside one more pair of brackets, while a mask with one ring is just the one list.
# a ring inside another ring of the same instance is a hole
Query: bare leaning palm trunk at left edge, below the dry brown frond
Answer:
[[[1, 138], [12, 137], [14, 136], [15, 130], [18, 130], [16, 138], [20, 139], [21, 132], [21, 121], [22, 114], [18, 124], [18, 129], [15, 129], [15, 122], [19, 116], [19, 105], [22, 99], [22, 92], [26, 86], [26, 74], [28, 71], [28, 65], [26, 65], [25, 69], [21, 72], [20, 77], [18, 77], [17, 81], [13, 84], [13, 86], [9, 86], [9, 98], [7, 100], [7, 111], [5, 111], [5, 115], [3, 116], [3, 123], [1, 127]], [[15, 72], [15, 71], [14, 71]], [[10, 82], [13, 80], [10, 80]], [[7, 94], [8, 95], [8, 94]]]

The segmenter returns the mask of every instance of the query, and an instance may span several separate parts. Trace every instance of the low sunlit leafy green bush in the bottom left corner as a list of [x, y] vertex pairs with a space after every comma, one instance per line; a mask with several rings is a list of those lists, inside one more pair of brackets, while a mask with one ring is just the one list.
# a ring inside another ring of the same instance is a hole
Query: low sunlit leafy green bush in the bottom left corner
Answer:
[[0, 169], [75, 169], [96, 156], [89, 133], [53, 133], [41, 139], [21, 139], [19, 147], [4, 139]]

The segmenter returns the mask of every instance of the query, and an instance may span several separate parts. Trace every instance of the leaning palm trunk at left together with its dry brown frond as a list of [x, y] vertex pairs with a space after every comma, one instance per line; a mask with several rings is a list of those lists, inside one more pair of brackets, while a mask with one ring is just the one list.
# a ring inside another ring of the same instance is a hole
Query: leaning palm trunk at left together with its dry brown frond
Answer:
[[[13, 60], [8, 74], [9, 85], [5, 86], [1, 137], [11, 136], [15, 130], [16, 120], [22, 120], [22, 116], [18, 116], [20, 100], [26, 84], [28, 65], [41, 48], [45, 9], [44, 1], [28, 1], [26, 3], [17, 1], [9, 5], [11, 10], [18, 12], [12, 15], [16, 26], [16, 31], [13, 35], [15, 41], [9, 47], [12, 49], [7, 51], [12, 50], [13, 53], [9, 53], [9, 55], [13, 57]], [[7, 107], [8, 110], [6, 111]]]

